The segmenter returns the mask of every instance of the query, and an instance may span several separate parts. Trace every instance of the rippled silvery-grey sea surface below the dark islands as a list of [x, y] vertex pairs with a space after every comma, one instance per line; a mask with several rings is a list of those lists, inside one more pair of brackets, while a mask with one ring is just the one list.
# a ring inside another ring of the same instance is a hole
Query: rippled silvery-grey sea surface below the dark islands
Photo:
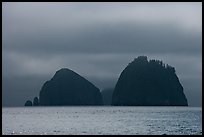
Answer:
[[2, 134], [202, 135], [202, 108], [3, 107]]

